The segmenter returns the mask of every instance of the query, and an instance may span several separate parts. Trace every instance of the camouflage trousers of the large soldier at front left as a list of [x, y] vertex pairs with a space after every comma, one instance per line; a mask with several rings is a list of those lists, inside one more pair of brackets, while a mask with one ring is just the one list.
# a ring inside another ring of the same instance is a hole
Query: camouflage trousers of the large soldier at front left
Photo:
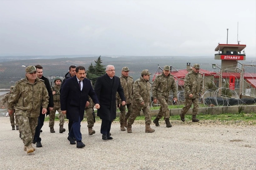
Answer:
[[22, 141], [25, 146], [28, 146], [35, 136], [38, 117], [27, 117], [24, 115], [18, 115], [17, 117], [19, 120]]

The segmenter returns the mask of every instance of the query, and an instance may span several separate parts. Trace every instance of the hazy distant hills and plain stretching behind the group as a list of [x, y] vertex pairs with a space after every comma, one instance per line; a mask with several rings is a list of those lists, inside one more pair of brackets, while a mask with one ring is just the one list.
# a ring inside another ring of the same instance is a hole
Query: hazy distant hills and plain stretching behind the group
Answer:
[[[22, 65], [37, 65], [40, 64], [43, 67], [43, 75], [46, 77], [51, 76], [62, 76], [68, 72], [70, 65], [84, 66], [86, 69], [92, 63], [95, 64], [94, 60], [98, 56], [89, 57], [87, 55], [81, 55], [86, 57], [77, 57], [79, 55], [73, 55], [72, 57], [65, 58], [63, 56], [30, 56], [30, 59], [22, 59], [23, 57], [17, 57], [18, 59], [9, 58], [9, 61], [0, 62], [0, 89], [9, 88], [17, 80], [25, 77], [25, 67]], [[35, 59], [38, 57], [37, 59]], [[55, 58], [53, 58], [55, 57]], [[0, 57], [2, 60], [3, 57]], [[255, 58], [247, 58], [248, 61], [255, 60]], [[12, 61], [10, 61], [12, 60]], [[214, 60], [214, 56], [206, 57], [186, 57], [186, 56], [101, 56], [102, 64], [114, 65], [116, 69], [116, 76], [121, 75], [121, 69], [124, 66], [129, 67], [130, 76], [133, 76], [134, 80], [140, 77], [140, 73], [143, 69], [148, 69], [151, 73], [157, 71], [158, 65], [165, 66], [171, 65], [173, 69], [183, 69], [186, 68], [187, 62], [191, 65], [194, 63], [199, 63], [201, 68], [206, 70], [213, 70], [212, 64], [220, 65], [221, 60]], [[152, 78], [152, 76], [151, 76]], [[50, 82], [53, 81], [50, 79]]]

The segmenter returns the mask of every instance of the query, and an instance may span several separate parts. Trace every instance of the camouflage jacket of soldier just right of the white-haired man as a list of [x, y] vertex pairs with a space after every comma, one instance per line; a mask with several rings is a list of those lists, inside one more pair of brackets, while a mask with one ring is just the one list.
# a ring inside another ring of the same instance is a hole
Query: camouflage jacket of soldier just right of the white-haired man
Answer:
[[[119, 78], [120, 78], [121, 86], [124, 89], [126, 104], [130, 104], [132, 95], [133, 95], [133, 90], [132, 90], [133, 84], [134, 84], [133, 78], [132, 76], [125, 77], [122, 74]], [[122, 101], [118, 93], [116, 93], [116, 98], [117, 98], [117, 103], [122, 104]]]

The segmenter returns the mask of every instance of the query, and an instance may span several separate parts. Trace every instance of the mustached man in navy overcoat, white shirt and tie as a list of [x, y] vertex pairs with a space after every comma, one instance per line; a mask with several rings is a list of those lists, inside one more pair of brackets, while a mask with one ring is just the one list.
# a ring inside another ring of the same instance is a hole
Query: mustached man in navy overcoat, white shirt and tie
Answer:
[[[66, 114], [67, 119], [73, 122], [67, 139], [71, 145], [76, 144], [77, 148], [85, 147], [85, 144], [81, 141], [80, 123], [84, 118], [84, 108], [89, 104], [88, 95], [95, 103], [95, 107], [97, 109], [100, 108], [91, 81], [85, 79], [85, 77], [85, 68], [82, 66], [76, 67], [76, 76], [66, 80], [61, 93], [61, 111], [63, 114]], [[73, 139], [74, 137], [77, 143]]]

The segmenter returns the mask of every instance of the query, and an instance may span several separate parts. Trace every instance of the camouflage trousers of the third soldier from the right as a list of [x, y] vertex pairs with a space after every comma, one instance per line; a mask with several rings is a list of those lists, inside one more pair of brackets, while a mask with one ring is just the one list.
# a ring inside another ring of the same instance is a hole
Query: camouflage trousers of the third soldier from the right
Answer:
[[151, 114], [150, 114], [150, 106], [149, 105], [147, 105], [143, 109], [132, 108], [131, 115], [128, 118], [128, 121], [127, 121], [128, 124], [132, 125], [134, 123], [136, 117], [139, 116], [139, 114], [140, 114], [140, 110], [143, 111], [143, 114], [145, 116], [145, 123], [146, 124], [151, 124]]

